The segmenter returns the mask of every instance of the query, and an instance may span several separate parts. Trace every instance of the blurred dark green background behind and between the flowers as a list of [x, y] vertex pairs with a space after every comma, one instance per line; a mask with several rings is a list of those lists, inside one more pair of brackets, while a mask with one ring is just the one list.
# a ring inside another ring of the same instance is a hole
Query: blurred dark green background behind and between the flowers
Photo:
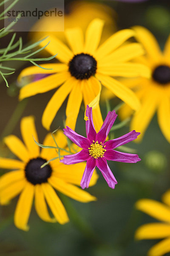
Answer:
[[[170, 33], [170, 1], [148, 0], [143, 3], [122, 3], [117, 1], [96, 1], [111, 6], [116, 12], [118, 29], [134, 25], [142, 25], [150, 29], [163, 49]], [[65, 0], [65, 8], [71, 1]], [[18, 33], [27, 42], [27, 33]], [[11, 35], [3, 38], [1, 46], [5, 47]], [[18, 105], [18, 90], [16, 79], [20, 71], [30, 64], [20, 63], [17, 72], [8, 79], [10, 88], [1, 81], [0, 88], [0, 134], [8, 135], [6, 125], [14, 109]], [[25, 107], [22, 116], [34, 114], [36, 127], [42, 143], [46, 134], [41, 125], [41, 116], [45, 105], [53, 95], [54, 90], [36, 95], [21, 103]], [[118, 100], [111, 100], [111, 108]], [[52, 129], [62, 127], [65, 116], [65, 106], [58, 112]], [[79, 114], [76, 131], [85, 134], [83, 110]], [[103, 118], [106, 107], [102, 105]], [[21, 118], [20, 118], [21, 119]], [[19, 121], [20, 121], [19, 119]], [[120, 122], [116, 120], [116, 123]], [[11, 126], [10, 126], [11, 127]], [[11, 130], [13, 127], [11, 127]], [[114, 137], [128, 132], [128, 126], [116, 130]], [[20, 122], [13, 131], [20, 137]], [[114, 190], [110, 189], [99, 173], [96, 186], [88, 189], [98, 201], [82, 204], [60, 195], [68, 211], [70, 222], [64, 226], [49, 224], [40, 220], [34, 207], [29, 220], [30, 230], [18, 230], [13, 224], [13, 213], [16, 206], [15, 198], [8, 206], [0, 207], [0, 256], [145, 256], [147, 250], [158, 240], [134, 241], [134, 232], [141, 224], [155, 222], [146, 214], [137, 211], [134, 203], [139, 198], [161, 200], [161, 195], [170, 188], [170, 145], [167, 143], [154, 116], [142, 143], [129, 143], [135, 148], [142, 159], [136, 164], [113, 163], [109, 166], [118, 181]], [[1, 155], [5, 156], [7, 149], [3, 143], [0, 146]], [[3, 173], [3, 170], [1, 171]], [[167, 256], [170, 255], [166, 254]]]

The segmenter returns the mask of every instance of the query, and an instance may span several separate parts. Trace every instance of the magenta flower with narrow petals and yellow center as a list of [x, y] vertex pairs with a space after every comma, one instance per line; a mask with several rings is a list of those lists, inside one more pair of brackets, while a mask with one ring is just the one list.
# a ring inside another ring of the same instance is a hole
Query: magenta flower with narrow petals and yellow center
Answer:
[[85, 123], [87, 138], [77, 134], [68, 126], [66, 126], [66, 129], [63, 129], [64, 134], [72, 140], [72, 142], [82, 148], [82, 150], [76, 154], [66, 155], [61, 162], [65, 164], [74, 164], [87, 161], [80, 183], [82, 189], [88, 188], [91, 176], [96, 166], [102, 172], [108, 186], [114, 189], [117, 181], [108, 166], [107, 160], [122, 163], [136, 163], [140, 161], [141, 159], [137, 154], [128, 154], [113, 150], [114, 148], [135, 140], [140, 132], [130, 131], [122, 137], [105, 141], [114, 121], [116, 120], [117, 115], [115, 111], [109, 111], [98, 133], [96, 133], [94, 128], [92, 108], [89, 108], [88, 105], [86, 109], [86, 116], [88, 117], [88, 120]]

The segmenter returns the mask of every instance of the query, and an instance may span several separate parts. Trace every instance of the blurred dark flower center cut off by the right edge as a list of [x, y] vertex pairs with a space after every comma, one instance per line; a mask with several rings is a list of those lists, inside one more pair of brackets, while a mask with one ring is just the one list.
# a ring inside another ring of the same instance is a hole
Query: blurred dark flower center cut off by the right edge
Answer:
[[170, 67], [160, 65], [155, 68], [152, 74], [153, 79], [159, 84], [167, 84], [170, 82]]

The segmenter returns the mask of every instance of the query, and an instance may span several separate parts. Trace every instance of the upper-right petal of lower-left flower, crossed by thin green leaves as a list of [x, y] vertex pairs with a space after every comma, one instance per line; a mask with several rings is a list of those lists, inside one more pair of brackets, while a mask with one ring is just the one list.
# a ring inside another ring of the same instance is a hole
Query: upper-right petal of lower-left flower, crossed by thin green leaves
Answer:
[[[64, 135], [62, 130], [58, 130], [55, 134], [53, 134], [53, 136], [54, 136], [54, 139], [57, 142], [57, 145], [60, 148], [65, 148], [66, 147], [67, 139], [66, 139], [66, 136]], [[51, 133], [47, 134], [46, 137], [45, 137], [45, 140], [43, 142], [43, 145], [56, 147], [54, 139], [51, 136]], [[56, 149], [55, 148], [54, 149], [52, 149], [52, 148], [42, 148], [41, 157], [45, 158], [47, 160], [49, 160], [53, 157], [57, 157]]]

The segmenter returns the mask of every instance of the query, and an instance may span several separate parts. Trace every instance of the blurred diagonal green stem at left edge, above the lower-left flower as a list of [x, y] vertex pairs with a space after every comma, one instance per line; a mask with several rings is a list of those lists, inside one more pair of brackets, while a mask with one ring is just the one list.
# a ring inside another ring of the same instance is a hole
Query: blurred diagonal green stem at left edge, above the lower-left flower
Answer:
[[25, 110], [27, 103], [28, 99], [23, 99], [21, 102], [18, 102], [17, 107], [15, 108], [11, 118], [9, 119], [6, 127], [3, 129], [3, 132], [0, 135], [0, 140], [12, 133], [23, 111]]

